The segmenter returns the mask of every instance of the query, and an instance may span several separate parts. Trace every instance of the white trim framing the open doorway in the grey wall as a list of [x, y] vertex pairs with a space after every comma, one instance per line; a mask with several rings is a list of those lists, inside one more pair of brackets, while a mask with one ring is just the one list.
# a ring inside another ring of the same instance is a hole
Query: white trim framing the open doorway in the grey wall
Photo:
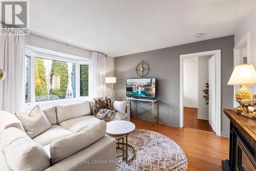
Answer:
[[180, 127], [183, 128], [183, 58], [216, 55], [216, 134], [221, 136], [221, 50], [180, 55]]

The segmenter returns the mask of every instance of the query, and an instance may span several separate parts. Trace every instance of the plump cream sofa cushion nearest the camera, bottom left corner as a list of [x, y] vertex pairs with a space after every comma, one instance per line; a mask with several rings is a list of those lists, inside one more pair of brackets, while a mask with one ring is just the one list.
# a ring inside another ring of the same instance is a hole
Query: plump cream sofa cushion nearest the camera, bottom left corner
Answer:
[[1, 148], [13, 170], [40, 171], [51, 165], [44, 147], [15, 127], [3, 131]]

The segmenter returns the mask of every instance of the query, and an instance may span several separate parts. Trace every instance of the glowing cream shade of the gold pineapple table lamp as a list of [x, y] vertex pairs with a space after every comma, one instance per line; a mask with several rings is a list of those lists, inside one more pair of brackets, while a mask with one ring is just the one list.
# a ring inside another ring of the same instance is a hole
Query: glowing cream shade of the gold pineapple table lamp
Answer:
[[251, 64], [241, 64], [234, 67], [228, 85], [254, 85], [256, 72]]

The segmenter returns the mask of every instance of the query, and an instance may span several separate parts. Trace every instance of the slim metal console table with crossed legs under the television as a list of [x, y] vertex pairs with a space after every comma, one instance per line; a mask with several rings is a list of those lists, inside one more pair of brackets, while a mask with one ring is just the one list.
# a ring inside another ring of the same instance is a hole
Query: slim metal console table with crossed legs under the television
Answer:
[[[141, 109], [146, 114], [152, 116], [153, 124], [154, 124], [155, 120], [156, 120], [156, 123], [158, 123], [158, 120], [159, 120], [158, 99], [145, 99], [145, 98], [124, 97], [123, 100], [130, 101], [130, 108], [131, 108], [131, 103], [133, 103], [134, 105], [137, 106], [137, 108], [131, 110], [131, 112], [133, 112], [133, 111], [135, 111], [137, 109]], [[148, 103], [145, 104], [145, 105], [140, 106], [140, 105], [136, 104], [134, 101], [143, 101], [143, 102], [148, 102]], [[144, 109], [145, 106], [151, 105], [151, 104], [152, 104], [152, 112], [149, 112], [149, 111]]]

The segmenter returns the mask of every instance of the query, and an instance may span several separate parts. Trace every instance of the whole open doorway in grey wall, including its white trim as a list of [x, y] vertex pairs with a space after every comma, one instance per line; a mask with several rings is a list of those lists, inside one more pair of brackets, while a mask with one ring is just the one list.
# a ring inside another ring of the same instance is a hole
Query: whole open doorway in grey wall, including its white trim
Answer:
[[221, 50], [180, 55], [180, 127], [221, 134]]

